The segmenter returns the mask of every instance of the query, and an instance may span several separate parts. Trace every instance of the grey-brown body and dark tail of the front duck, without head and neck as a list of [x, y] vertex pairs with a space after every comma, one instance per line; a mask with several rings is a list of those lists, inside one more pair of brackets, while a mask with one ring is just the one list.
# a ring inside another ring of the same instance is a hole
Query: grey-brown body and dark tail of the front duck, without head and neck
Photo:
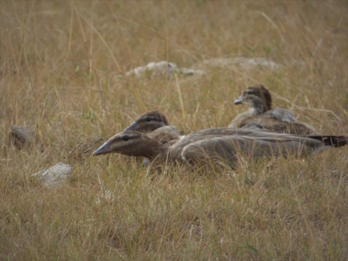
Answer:
[[237, 155], [252, 158], [317, 153], [347, 145], [346, 136], [300, 136], [241, 128], [212, 128], [183, 136], [170, 147], [172, 160], [197, 162], [222, 158], [235, 165]]

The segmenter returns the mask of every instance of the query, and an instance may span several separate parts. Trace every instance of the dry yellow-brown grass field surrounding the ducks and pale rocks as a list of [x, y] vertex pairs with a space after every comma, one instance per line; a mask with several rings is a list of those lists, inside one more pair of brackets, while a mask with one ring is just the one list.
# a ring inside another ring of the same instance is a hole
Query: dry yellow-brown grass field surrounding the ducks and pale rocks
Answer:
[[[116, 154], [69, 157], [149, 110], [184, 133], [228, 126], [256, 83], [347, 135], [347, 42], [347, 1], [1, 1], [0, 259], [347, 260], [348, 146], [162, 174]], [[204, 63], [235, 57], [281, 66]], [[117, 77], [163, 60], [205, 76]], [[45, 152], [11, 145], [11, 125]], [[61, 161], [67, 185], [31, 177]]]

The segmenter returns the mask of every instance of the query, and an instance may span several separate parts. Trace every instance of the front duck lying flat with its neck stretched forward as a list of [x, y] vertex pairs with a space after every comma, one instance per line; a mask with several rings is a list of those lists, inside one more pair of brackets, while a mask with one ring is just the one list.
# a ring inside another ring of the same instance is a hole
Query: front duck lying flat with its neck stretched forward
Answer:
[[241, 153], [253, 159], [286, 157], [318, 153], [347, 143], [348, 136], [301, 136], [243, 128], [210, 128], [184, 135], [166, 146], [144, 133], [126, 130], [111, 137], [93, 152], [93, 156], [114, 152], [175, 165], [223, 160], [234, 168]]

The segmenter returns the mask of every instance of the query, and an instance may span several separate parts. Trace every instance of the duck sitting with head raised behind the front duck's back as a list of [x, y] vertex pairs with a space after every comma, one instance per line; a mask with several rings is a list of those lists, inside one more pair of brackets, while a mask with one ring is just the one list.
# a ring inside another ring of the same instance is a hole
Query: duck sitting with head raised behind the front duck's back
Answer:
[[266, 132], [296, 135], [319, 135], [317, 130], [282, 108], [272, 108], [269, 90], [261, 84], [248, 87], [234, 104], [245, 104], [249, 110], [238, 114], [228, 125], [230, 128], [251, 128]]

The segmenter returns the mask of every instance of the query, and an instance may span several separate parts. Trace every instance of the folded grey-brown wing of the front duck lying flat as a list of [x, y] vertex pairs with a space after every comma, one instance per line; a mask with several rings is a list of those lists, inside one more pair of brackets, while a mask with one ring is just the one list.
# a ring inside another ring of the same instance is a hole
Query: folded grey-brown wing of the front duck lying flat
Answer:
[[235, 167], [240, 160], [261, 157], [306, 155], [332, 148], [332, 142], [323, 144], [321, 139], [308, 137], [253, 137], [224, 135], [199, 140], [186, 145], [181, 153], [183, 161], [196, 164], [204, 160], [224, 161]]

